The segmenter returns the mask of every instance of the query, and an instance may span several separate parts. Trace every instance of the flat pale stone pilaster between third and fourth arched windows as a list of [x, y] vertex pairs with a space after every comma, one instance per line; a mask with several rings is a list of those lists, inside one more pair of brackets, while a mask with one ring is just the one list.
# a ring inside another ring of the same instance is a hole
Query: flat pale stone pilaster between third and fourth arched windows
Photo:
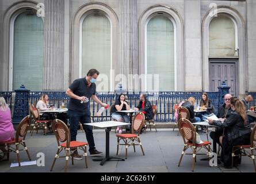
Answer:
[[186, 0], [184, 86], [187, 91], [202, 90], [201, 37], [201, 1]]

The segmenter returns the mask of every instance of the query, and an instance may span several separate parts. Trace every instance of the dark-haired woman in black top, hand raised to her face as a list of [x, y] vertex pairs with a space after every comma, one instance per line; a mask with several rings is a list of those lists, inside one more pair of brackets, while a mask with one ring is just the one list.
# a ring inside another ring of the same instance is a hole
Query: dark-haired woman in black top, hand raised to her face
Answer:
[[[117, 112], [119, 110], [130, 110], [130, 106], [127, 101], [125, 101], [124, 94], [120, 94], [118, 100], [114, 103], [112, 118], [120, 122], [129, 122], [129, 116], [126, 113]], [[123, 132], [121, 127], [117, 127], [116, 131], [119, 133]]]

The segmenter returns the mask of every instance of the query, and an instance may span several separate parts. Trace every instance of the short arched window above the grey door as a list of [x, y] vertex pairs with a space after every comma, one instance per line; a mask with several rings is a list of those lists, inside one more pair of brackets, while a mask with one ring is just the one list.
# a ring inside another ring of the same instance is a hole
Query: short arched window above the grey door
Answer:
[[209, 25], [209, 56], [235, 56], [235, 24], [230, 16], [218, 14]]

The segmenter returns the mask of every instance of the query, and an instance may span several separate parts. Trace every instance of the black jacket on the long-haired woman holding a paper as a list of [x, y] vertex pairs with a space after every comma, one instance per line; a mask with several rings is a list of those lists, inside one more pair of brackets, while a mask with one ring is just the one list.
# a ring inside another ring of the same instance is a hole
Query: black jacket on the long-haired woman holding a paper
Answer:
[[226, 128], [226, 136], [229, 141], [251, 132], [250, 125], [244, 125], [243, 118], [236, 111], [232, 111], [230, 116], [228, 116], [223, 123], [213, 120], [213, 125]]

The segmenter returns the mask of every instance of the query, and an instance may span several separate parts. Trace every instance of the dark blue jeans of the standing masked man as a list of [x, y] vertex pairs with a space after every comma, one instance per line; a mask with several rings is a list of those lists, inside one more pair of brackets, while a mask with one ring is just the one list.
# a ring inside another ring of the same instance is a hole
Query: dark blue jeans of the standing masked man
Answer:
[[91, 122], [91, 113], [90, 109], [86, 109], [85, 112], [77, 112], [75, 110], [69, 110], [68, 109], [68, 118], [70, 122], [70, 136], [71, 136], [71, 141], [77, 140], [77, 130], [78, 130], [78, 125], [79, 121], [83, 125], [83, 129], [85, 130], [85, 135], [87, 142], [89, 144], [89, 151], [95, 149], [95, 144], [94, 144], [94, 138], [93, 138], [93, 127], [89, 125], [85, 125], [86, 123]]

